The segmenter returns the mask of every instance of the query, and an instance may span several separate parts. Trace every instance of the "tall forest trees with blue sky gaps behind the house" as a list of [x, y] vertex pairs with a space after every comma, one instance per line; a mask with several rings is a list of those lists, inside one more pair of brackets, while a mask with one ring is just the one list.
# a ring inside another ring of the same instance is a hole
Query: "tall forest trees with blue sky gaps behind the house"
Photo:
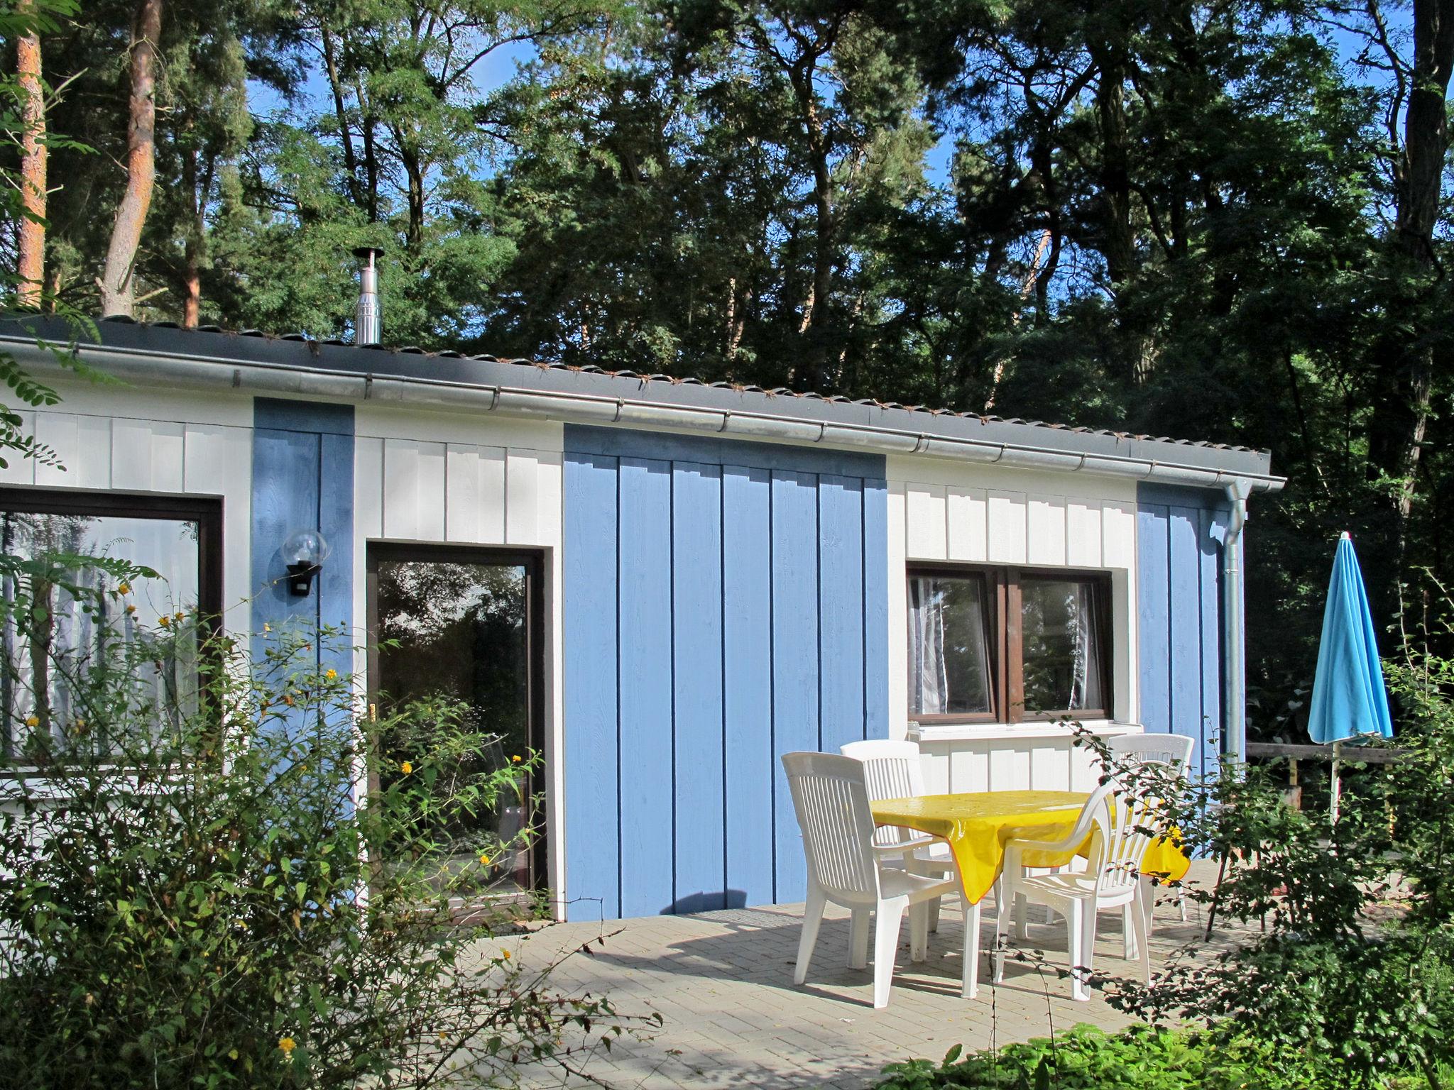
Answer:
[[1454, 0], [6, 7], [20, 305], [1271, 448], [1261, 737], [1451, 578]]

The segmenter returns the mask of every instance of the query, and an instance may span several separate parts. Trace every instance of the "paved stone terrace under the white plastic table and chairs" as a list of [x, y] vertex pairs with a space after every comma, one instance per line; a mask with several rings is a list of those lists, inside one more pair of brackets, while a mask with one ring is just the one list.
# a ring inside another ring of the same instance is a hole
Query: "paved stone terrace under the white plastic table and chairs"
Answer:
[[[1194, 879], [1210, 878], [1198, 866]], [[993, 908], [986, 905], [983, 942], [993, 945]], [[1051, 966], [1066, 964], [1066, 929], [1034, 923], [1031, 946]], [[938, 1059], [951, 1045], [984, 1048], [1045, 1036], [1051, 1025], [1067, 1029], [1090, 1022], [1114, 1029], [1128, 1022], [1098, 994], [1070, 1000], [1070, 982], [1054, 972], [1006, 962], [1005, 982], [992, 987], [981, 962], [979, 998], [960, 997], [963, 919], [957, 898], [947, 898], [939, 930], [929, 939], [929, 959], [909, 959], [904, 921], [888, 1006], [874, 1010], [872, 965], [846, 968], [848, 914], [829, 908], [807, 984], [792, 985], [801, 905], [739, 908], [698, 916], [657, 916], [606, 923], [545, 927], [510, 940], [523, 964], [605, 936], [593, 956], [573, 955], [557, 968], [560, 991], [609, 994], [618, 1010], [660, 1012], [664, 1025], [646, 1041], [618, 1041], [596, 1049], [586, 1070], [603, 1083], [641, 1087], [871, 1087], [884, 1064], [926, 1057]], [[1172, 950], [1197, 940], [1205, 927], [1198, 905], [1181, 923], [1176, 905], [1156, 910], [1153, 969]], [[1214, 946], [1227, 942], [1218, 936]], [[1096, 969], [1120, 975], [1134, 968], [1121, 958], [1118, 913], [1102, 913]], [[576, 1058], [582, 1061], [580, 1057]], [[586, 1086], [560, 1073], [525, 1070], [525, 1086]]]

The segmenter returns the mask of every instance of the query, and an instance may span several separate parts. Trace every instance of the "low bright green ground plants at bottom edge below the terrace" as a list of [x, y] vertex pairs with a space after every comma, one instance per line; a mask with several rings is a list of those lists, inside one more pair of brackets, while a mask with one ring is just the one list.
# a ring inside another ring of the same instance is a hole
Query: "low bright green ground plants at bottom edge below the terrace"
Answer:
[[963, 1054], [955, 1045], [941, 1064], [910, 1059], [884, 1068], [878, 1090], [1335, 1090], [1297, 1054], [1250, 1041], [1207, 1038], [1133, 1026], [1108, 1035], [1076, 1026], [1059, 1038], [1037, 1038], [1002, 1049]]

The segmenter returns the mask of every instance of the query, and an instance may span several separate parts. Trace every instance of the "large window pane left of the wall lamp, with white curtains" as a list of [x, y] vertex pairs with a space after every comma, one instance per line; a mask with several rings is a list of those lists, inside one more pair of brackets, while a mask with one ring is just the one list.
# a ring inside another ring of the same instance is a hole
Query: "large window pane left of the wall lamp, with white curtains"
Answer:
[[[100, 677], [95, 667], [103, 657], [129, 671], [128, 699], [151, 706], [158, 730], [160, 719], [195, 709], [198, 539], [199, 526], [188, 519], [0, 512], [0, 552], [6, 555], [22, 561], [109, 557], [158, 573], [129, 580], [125, 599], [109, 597], [118, 580], [83, 562], [64, 561], [60, 573], [22, 565], [6, 574], [4, 599], [33, 603], [7, 610], [0, 631], [6, 759], [23, 762], [42, 746], [49, 751], [74, 747], [90, 718], [86, 705], [102, 699], [92, 683]], [[90, 741], [93, 748], [115, 751], [122, 740]]]

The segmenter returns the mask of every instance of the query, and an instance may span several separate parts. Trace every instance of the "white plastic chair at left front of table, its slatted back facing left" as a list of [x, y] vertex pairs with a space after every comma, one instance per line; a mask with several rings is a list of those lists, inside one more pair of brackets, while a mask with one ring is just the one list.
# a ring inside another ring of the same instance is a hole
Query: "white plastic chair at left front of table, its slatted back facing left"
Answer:
[[856, 932], [867, 932], [867, 913], [872, 911], [874, 1006], [885, 1007], [904, 910], [910, 910], [910, 956], [923, 961], [928, 946], [925, 903], [958, 888], [958, 882], [884, 865], [884, 856], [901, 855], [903, 849], [874, 844], [874, 815], [868, 808], [868, 783], [861, 762], [833, 753], [785, 753], [782, 767], [792, 789], [792, 807], [803, 830], [803, 853], [808, 865], [808, 895], [792, 982], [807, 980], [823, 908], [829, 901], [853, 913], [849, 968], [864, 968]]

